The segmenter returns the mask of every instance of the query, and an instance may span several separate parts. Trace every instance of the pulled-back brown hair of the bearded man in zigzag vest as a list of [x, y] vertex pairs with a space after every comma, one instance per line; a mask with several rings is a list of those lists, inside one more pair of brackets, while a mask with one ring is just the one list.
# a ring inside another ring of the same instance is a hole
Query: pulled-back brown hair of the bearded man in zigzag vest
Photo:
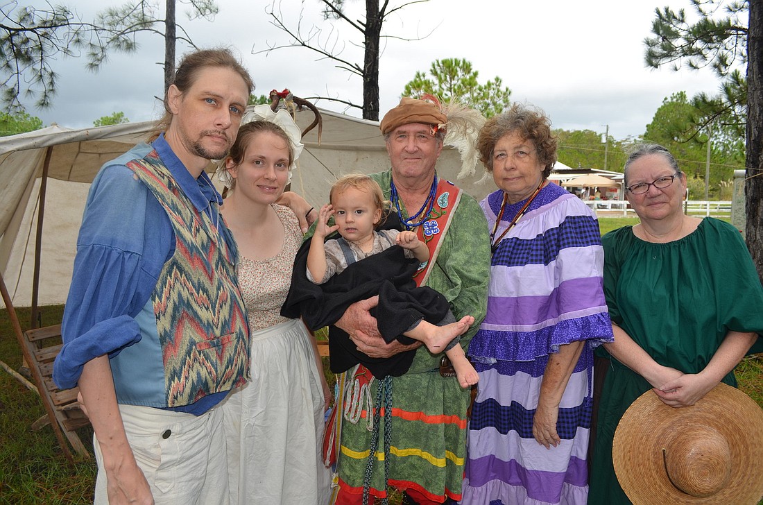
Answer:
[[[182, 61], [175, 71], [175, 80], [172, 84], [174, 84], [181, 93], [185, 93], [192, 87], [192, 85], [194, 85], [201, 69], [210, 66], [233, 70], [233, 72], [236, 72], [241, 76], [244, 84], [246, 84], [246, 98], [248, 99], [249, 95], [252, 94], [254, 88], [252, 77], [243, 67], [240, 60], [236, 56], [233, 56], [233, 52], [226, 47], [198, 50], [183, 56]], [[155, 140], [156, 137], [159, 137], [159, 133], [166, 131], [167, 128], [169, 128], [169, 124], [172, 123], [172, 112], [169, 110], [168, 92], [169, 88], [164, 93], [164, 116], [154, 125], [153, 130], [149, 135], [149, 140]]]

